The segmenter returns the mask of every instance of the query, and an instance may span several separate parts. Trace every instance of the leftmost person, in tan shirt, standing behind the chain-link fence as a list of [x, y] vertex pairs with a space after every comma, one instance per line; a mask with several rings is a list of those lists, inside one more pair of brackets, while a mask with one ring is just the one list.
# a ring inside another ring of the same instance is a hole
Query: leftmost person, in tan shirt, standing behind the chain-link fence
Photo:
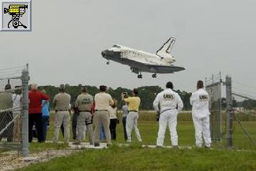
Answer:
[[[13, 99], [10, 93], [11, 85], [6, 84], [5, 91], [0, 92], [0, 132], [10, 121], [13, 121]], [[0, 135], [0, 140], [7, 137], [7, 142], [13, 142], [13, 123]]]

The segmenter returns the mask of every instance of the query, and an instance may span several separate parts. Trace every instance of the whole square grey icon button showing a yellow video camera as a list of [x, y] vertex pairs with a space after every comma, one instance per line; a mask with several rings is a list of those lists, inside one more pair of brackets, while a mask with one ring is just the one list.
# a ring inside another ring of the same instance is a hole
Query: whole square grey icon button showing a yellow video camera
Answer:
[[0, 31], [31, 31], [31, 0], [0, 0]]

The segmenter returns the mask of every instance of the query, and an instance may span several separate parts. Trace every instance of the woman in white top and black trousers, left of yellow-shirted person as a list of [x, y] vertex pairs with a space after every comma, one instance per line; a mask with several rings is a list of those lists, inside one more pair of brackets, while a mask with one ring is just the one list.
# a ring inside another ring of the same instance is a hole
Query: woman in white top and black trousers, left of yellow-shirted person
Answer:
[[117, 114], [117, 101], [115, 99], [113, 99], [114, 101], [114, 105], [109, 106], [108, 111], [109, 111], [109, 118], [110, 118], [110, 125], [109, 125], [109, 129], [111, 131], [111, 139], [115, 140], [116, 139], [116, 132], [115, 132], [115, 128], [116, 125], [118, 124], [118, 118], [116, 117]]

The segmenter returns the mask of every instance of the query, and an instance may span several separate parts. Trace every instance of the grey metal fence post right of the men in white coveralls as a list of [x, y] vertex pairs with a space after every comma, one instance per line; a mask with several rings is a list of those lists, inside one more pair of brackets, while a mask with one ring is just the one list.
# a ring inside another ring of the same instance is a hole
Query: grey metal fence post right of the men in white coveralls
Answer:
[[226, 101], [227, 101], [227, 114], [226, 114], [226, 128], [227, 128], [227, 145], [228, 148], [233, 147], [232, 142], [232, 78], [226, 76]]

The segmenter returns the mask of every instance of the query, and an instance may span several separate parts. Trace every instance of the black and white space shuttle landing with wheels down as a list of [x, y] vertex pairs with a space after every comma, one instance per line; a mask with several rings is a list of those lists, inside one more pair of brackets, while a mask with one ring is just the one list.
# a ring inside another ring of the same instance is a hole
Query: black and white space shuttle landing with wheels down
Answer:
[[137, 73], [137, 78], [141, 79], [141, 72], [152, 72], [152, 78], [156, 78], [156, 73], [174, 73], [183, 71], [185, 68], [175, 66], [175, 57], [171, 55], [171, 49], [175, 43], [175, 38], [168, 39], [156, 54], [135, 50], [130, 47], [114, 45], [101, 52], [102, 57], [110, 61], [119, 62], [122, 65], [129, 65], [130, 70]]

